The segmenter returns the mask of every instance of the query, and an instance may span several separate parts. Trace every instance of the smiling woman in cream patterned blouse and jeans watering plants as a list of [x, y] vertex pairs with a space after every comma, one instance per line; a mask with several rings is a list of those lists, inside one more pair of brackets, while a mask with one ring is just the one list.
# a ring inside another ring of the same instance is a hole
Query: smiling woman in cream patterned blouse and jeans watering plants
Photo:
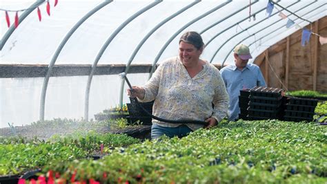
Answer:
[[[200, 59], [204, 42], [190, 31], [179, 39], [179, 57], [162, 62], [144, 86], [128, 89], [130, 97], [153, 104], [153, 115], [168, 120], [202, 120], [214, 127], [226, 116], [228, 94], [219, 70]], [[214, 108], [212, 108], [214, 104]], [[204, 125], [152, 120], [151, 138], [186, 136]]]

